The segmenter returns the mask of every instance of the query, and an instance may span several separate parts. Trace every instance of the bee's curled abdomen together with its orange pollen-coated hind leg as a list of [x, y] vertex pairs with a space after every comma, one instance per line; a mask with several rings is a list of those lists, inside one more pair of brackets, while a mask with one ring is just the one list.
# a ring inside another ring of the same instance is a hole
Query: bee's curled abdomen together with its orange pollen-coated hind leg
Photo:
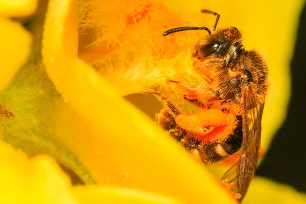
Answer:
[[171, 100], [155, 94], [164, 109], [158, 123], [189, 152], [198, 152], [201, 161], [212, 164], [235, 154], [241, 146], [242, 120], [230, 110], [206, 109], [199, 114], [185, 113]]

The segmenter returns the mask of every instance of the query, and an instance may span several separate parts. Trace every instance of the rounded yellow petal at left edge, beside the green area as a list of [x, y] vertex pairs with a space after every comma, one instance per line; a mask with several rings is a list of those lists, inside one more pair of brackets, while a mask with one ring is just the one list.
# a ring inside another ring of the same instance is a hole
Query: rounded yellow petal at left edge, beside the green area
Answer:
[[1, 91], [10, 83], [18, 68], [27, 60], [32, 38], [19, 23], [4, 18], [0, 18], [0, 31]]

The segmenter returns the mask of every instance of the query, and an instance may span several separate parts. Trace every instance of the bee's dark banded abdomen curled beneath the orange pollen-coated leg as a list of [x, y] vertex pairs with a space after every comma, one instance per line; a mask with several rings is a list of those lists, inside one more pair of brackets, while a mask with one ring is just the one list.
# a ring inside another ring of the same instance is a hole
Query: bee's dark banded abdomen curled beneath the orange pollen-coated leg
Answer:
[[[158, 123], [170, 135], [182, 146], [184, 146], [188, 151], [194, 152], [198, 151], [199, 157], [203, 163], [213, 164], [230, 157], [235, 152], [240, 149], [242, 141], [242, 118], [238, 118], [240, 122], [233, 133], [228, 136], [224, 141], [213, 141], [213, 142], [203, 142], [194, 137], [194, 132], [189, 132], [183, 129], [177, 124], [177, 117], [189, 118], [195, 115], [185, 115], [185, 112], [179, 107], [175, 106], [171, 100], [162, 96], [159, 93], [151, 93], [158, 96], [162, 101], [164, 109], [158, 114]], [[238, 143], [238, 146], [237, 144]]]

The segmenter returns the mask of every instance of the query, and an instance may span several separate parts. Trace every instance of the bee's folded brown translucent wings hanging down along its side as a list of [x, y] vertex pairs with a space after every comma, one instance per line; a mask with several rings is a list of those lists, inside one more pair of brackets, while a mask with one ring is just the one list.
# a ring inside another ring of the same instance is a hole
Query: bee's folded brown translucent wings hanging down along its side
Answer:
[[264, 104], [260, 103], [256, 94], [252, 94], [250, 86], [241, 87], [241, 93], [243, 99], [241, 155], [222, 176], [222, 182], [234, 182], [232, 190], [242, 195], [239, 201], [242, 201], [246, 194], [259, 159], [261, 118], [264, 109]]

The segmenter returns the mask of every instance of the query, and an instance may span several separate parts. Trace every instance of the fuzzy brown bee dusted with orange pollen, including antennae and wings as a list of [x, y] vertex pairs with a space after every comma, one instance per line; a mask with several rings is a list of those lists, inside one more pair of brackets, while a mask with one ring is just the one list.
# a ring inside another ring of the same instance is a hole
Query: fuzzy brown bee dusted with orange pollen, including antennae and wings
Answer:
[[242, 201], [254, 176], [259, 160], [261, 118], [268, 90], [268, 69], [256, 50], [246, 50], [242, 34], [235, 27], [217, 29], [220, 15], [211, 10], [202, 13], [216, 16], [213, 31], [207, 27], [180, 27], [163, 36], [188, 30], [205, 30], [208, 35], [195, 45], [194, 69], [214, 83], [216, 88], [200, 89], [175, 80], [183, 86], [183, 100], [201, 109], [186, 113], [171, 98], [154, 92], [164, 106], [158, 123], [190, 152], [197, 151], [201, 161], [212, 164], [236, 154], [240, 157], [222, 176], [221, 181], [234, 183], [232, 190]]

